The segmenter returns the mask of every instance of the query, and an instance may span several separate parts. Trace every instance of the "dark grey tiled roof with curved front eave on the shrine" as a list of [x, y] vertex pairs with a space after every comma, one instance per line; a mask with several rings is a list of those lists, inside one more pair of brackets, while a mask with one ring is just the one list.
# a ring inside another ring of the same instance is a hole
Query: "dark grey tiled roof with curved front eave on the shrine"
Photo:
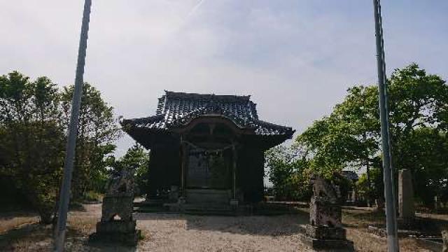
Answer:
[[165, 91], [159, 98], [155, 116], [123, 120], [123, 124], [151, 130], [169, 130], [200, 116], [220, 115], [229, 118], [239, 127], [253, 129], [255, 134], [292, 137], [292, 128], [258, 120], [255, 106], [250, 96]]

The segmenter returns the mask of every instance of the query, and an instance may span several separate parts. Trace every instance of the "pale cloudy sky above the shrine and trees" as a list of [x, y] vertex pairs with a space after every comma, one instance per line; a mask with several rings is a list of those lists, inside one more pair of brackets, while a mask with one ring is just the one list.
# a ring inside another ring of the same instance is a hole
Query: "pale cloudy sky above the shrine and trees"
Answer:
[[[388, 74], [417, 62], [446, 80], [448, 1], [382, 3]], [[0, 6], [0, 74], [71, 85], [83, 1]], [[84, 80], [116, 116], [153, 116], [164, 90], [251, 94], [262, 120], [300, 134], [376, 83], [375, 55], [371, 0], [93, 0]]]

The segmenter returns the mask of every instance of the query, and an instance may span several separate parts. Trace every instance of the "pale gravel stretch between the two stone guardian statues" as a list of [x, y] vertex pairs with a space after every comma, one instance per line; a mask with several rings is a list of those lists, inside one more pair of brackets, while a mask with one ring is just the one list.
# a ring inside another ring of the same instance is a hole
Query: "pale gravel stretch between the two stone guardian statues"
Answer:
[[[141, 251], [310, 251], [291, 216], [137, 214]], [[303, 220], [302, 220], [303, 221]]]

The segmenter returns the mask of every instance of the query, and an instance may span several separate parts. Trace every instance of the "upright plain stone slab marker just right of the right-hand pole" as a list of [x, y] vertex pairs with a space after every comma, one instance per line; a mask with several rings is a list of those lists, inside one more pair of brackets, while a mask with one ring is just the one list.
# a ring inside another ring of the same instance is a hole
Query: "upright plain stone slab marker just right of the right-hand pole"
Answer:
[[401, 169], [398, 172], [398, 213], [405, 221], [412, 221], [415, 217], [414, 188], [409, 169]]

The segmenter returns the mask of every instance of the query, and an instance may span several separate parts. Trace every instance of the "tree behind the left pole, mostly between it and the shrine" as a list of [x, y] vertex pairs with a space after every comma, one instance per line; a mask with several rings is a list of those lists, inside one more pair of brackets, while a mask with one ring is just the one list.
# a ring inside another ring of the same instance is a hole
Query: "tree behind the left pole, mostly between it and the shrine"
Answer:
[[[68, 129], [74, 86], [62, 92], [62, 120]], [[83, 85], [76, 157], [73, 165], [73, 197], [80, 200], [89, 190], [102, 190], [106, 182], [107, 158], [115, 151], [120, 137], [113, 107], [89, 83]]]

